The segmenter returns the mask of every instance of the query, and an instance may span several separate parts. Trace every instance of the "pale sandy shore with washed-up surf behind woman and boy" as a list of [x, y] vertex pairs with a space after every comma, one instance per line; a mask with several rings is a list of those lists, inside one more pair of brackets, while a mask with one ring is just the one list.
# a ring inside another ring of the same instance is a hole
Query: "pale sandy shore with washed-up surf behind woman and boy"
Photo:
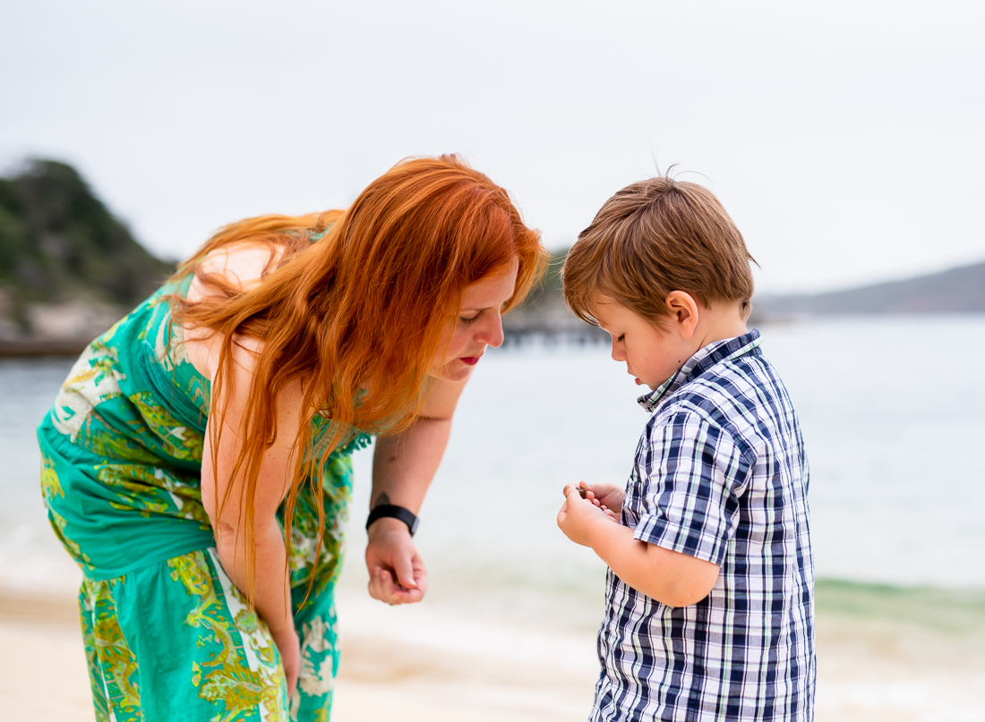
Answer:
[[[985, 594], [819, 587], [819, 722], [985, 720]], [[437, 609], [339, 599], [335, 722], [554, 722], [586, 717], [592, 634], [484, 625]], [[0, 593], [0, 704], [9, 719], [92, 720], [67, 594]]]

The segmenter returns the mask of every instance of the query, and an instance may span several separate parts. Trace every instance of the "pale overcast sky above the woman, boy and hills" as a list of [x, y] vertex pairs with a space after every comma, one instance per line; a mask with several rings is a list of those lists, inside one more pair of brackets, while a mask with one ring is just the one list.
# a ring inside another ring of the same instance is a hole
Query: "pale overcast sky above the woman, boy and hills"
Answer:
[[718, 195], [765, 292], [985, 260], [980, 3], [32, 0], [0, 19], [0, 172], [74, 164], [170, 259], [459, 152], [551, 248], [673, 165]]

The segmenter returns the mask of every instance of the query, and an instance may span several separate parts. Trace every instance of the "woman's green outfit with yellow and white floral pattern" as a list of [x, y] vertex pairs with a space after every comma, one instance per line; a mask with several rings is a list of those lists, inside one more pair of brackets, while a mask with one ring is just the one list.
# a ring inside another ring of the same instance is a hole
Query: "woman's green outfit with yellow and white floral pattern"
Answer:
[[369, 439], [358, 435], [324, 468], [320, 554], [313, 498], [298, 500], [290, 563], [301, 670], [289, 699], [277, 647], [220, 566], [202, 506], [210, 382], [188, 361], [168, 302], [190, 281], [165, 285], [93, 341], [37, 432], [51, 525], [85, 574], [96, 717], [327, 720], [351, 454]]

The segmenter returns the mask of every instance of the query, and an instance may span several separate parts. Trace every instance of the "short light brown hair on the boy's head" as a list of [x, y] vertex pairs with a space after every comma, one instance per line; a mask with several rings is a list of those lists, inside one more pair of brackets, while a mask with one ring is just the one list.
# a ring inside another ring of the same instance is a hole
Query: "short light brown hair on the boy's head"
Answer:
[[606, 296], [658, 328], [671, 291], [707, 306], [737, 301], [752, 311], [755, 259], [711, 191], [660, 176], [633, 183], [606, 201], [578, 235], [564, 262], [564, 300], [598, 326], [592, 313]]

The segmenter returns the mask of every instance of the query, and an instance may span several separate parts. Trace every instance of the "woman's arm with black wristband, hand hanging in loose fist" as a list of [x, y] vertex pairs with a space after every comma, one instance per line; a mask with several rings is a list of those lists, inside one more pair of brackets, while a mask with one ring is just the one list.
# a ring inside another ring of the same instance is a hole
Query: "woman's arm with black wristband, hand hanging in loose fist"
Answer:
[[[448, 444], [451, 417], [465, 381], [435, 379], [424, 413], [401, 434], [380, 437], [373, 454], [369, 508], [381, 504], [421, 510]], [[427, 592], [427, 569], [407, 525], [381, 518], [369, 527], [366, 545], [369, 595], [388, 604], [419, 602]]]

